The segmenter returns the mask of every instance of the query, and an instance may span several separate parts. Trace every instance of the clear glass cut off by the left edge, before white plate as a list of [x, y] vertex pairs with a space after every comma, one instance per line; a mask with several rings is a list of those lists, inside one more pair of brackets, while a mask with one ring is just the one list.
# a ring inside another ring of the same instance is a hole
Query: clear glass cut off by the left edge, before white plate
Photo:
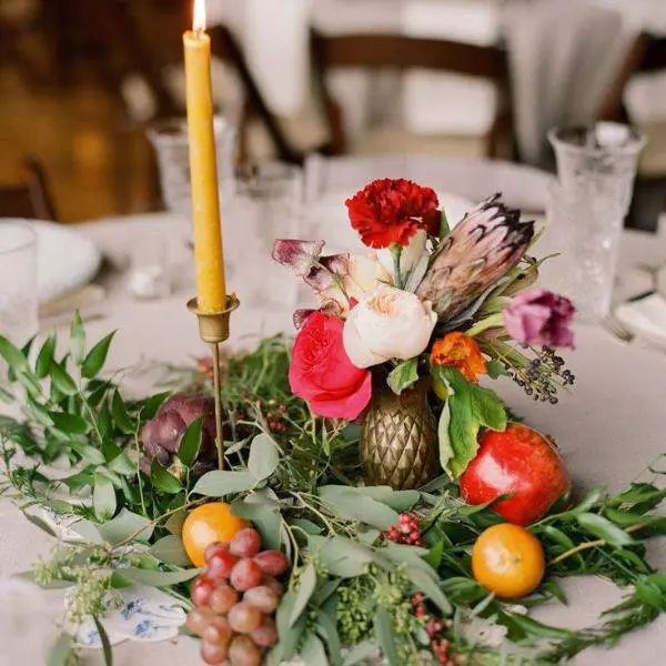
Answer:
[[37, 235], [22, 220], [0, 220], [0, 335], [22, 346], [38, 331], [38, 312]]

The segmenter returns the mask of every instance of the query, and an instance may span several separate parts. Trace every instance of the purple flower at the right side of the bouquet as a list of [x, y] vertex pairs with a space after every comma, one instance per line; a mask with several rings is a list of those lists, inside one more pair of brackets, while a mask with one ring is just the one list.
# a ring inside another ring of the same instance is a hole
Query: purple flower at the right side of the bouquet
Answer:
[[518, 294], [504, 311], [508, 334], [523, 344], [574, 349], [573, 303], [544, 289]]

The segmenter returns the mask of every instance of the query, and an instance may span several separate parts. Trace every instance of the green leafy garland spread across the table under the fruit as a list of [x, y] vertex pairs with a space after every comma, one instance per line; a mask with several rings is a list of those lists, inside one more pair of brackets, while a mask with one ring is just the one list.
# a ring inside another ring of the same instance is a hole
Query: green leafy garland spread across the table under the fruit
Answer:
[[[0, 416], [2, 491], [53, 536], [36, 506], [79, 518], [72, 528], [83, 542], [59, 542], [52, 558], [27, 574], [40, 585], [71, 587], [70, 624], [93, 616], [104, 639], [104, 599], [133, 582], [186, 603], [198, 569], [188, 566], [180, 529], [189, 508], [213, 497], [230, 502], [265, 547], [283, 549], [292, 562], [278, 609], [274, 664], [296, 654], [313, 665], [351, 666], [376, 655], [392, 666], [433, 656], [451, 664], [558, 664], [587, 647], [612, 646], [666, 612], [666, 575], [645, 556], [646, 539], [666, 533], [666, 517], [654, 513], [666, 491], [655, 483], [632, 483], [617, 495], [595, 488], [531, 526], [546, 553], [547, 577], [522, 606], [565, 603], [557, 583], [565, 576], [604, 576], [627, 589], [594, 627], [551, 627], [472, 576], [472, 545], [502, 521], [491, 507], [465, 505], [446, 477], [418, 492], [359, 485], [359, 427], [314, 416], [291, 393], [290, 345], [282, 336], [225, 360], [225, 471], [195, 473], [198, 421], [182, 438], [178, 468], [153, 462], [143, 473], [141, 428], [171, 392], [124, 400], [115, 381], [102, 375], [112, 336], [88, 349], [77, 316], [63, 355], [54, 335], [39, 350], [0, 337], [10, 369], [0, 397], [20, 412]], [[210, 369], [192, 365], [169, 369], [172, 389], [210, 391]], [[50, 468], [63, 458], [71, 465], [65, 475]], [[74, 500], [82, 493], [91, 502]], [[386, 538], [405, 512], [417, 522], [417, 545]], [[484, 644], [470, 633], [472, 625], [498, 628], [508, 640]], [[50, 664], [73, 663], [72, 640], [59, 637]]]

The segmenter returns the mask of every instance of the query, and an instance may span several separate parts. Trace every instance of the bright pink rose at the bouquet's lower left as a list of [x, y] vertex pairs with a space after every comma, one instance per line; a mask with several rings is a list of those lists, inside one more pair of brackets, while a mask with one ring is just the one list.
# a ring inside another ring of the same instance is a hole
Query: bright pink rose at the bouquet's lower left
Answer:
[[305, 320], [294, 344], [289, 382], [315, 414], [352, 421], [370, 402], [372, 375], [350, 361], [343, 326], [341, 320], [320, 311]]

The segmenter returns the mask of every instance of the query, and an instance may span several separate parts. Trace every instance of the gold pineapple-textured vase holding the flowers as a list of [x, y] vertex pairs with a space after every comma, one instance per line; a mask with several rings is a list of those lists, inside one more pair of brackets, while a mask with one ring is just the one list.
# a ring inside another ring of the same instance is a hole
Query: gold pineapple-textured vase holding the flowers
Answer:
[[360, 442], [369, 485], [417, 488], [437, 475], [437, 428], [427, 404], [427, 383], [395, 395], [377, 382]]

